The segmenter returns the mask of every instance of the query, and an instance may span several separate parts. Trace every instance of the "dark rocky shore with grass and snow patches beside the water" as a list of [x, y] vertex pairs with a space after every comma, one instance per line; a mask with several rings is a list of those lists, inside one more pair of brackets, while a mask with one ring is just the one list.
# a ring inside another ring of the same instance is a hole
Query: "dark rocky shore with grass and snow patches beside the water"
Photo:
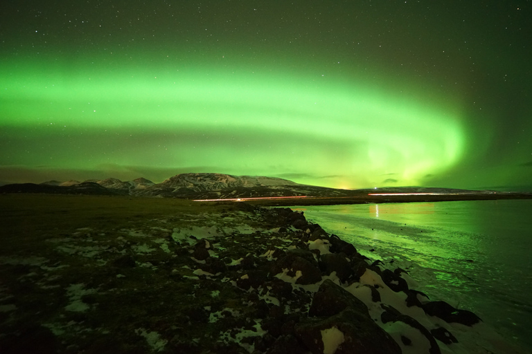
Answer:
[[1, 353], [519, 353], [292, 209], [161, 201], [159, 214], [123, 198], [113, 210], [134, 212], [109, 216], [116, 197], [86, 196], [83, 221], [17, 234], [38, 214], [14, 198]]

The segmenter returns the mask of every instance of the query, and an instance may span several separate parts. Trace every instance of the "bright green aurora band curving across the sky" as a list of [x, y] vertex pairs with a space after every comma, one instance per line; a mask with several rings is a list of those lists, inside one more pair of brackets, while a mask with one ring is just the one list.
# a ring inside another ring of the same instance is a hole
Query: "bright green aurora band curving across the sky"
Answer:
[[159, 169], [143, 176], [156, 182], [172, 170], [212, 171], [357, 188], [425, 185], [465, 149], [460, 105], [433, 100], [426, 86], [400, 91], [385, 77], [379, 85], [279, 66], [94, 62], [0, 68], [10, 147], [2, 165], [123, 179]]

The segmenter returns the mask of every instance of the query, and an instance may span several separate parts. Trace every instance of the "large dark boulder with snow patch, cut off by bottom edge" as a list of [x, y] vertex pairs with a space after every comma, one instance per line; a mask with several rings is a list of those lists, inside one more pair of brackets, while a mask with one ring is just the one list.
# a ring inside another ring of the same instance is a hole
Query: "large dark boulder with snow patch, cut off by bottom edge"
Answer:
[[[328, 336], [327, 334], [331, 333]], [[296, 337], [305, 344], [312, 354], [400, 354], [398, 344], [380, 328], [373, 319], [348, 307], [332, 317], [302, 319], [295, 326]], [[323, 343], [323, 337], [326, 343]], [[335, 340], [330, 337], [335, 337]], [[335, 343], [336, 342], [336, 343]]]

